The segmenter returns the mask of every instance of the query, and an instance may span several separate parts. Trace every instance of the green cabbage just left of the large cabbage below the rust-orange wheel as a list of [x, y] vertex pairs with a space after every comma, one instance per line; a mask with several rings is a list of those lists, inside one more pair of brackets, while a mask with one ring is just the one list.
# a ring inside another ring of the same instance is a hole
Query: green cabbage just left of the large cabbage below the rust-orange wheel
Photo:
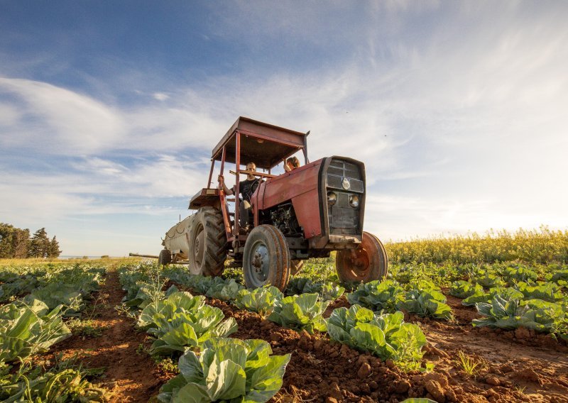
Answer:
[[318, 294], [300, 294], [285, 297], [274, 307], [268, 320], [281, 326], [305, 330], [309, 333], [325, 331], [322, 317], [329, 301], [321, 301]]

